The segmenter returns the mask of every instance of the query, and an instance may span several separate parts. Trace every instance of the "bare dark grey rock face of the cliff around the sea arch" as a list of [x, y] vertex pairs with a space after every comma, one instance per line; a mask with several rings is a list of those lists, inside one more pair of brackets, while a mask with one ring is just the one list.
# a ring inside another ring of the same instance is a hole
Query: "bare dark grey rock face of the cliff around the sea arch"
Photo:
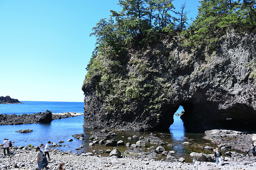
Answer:
[[[147, 85], [145, 92], [151, 93], [126, 100], [121, 105], [125, 110], [116, 107], [109, 112], [106, 95], [98, 94], [93, 80], [86, 82], [82, 87], [84, 126], [168, 130], [173, 114], [181, 105], [186, 129], [255, 129], [255, 38], [250, 32], [227, 33], [211, 55], [204, 53], [205, 49], [184, 48], [179, 39], [163, 41], [144, 50], [129, 49], [122, 64], [128, 71], [120, 73], [120, 77], [132, 73], [143, 78], [141, 87]], [[140, 71], [139, 66], [143, 64], [147, 74]]]

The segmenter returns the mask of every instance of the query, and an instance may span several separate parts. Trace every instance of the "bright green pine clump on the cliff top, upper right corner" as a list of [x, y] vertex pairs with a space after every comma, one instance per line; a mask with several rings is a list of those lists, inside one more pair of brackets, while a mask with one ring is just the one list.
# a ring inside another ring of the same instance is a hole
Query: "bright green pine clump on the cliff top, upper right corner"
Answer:
[[193, 22], [188, 45], [218, 47], [218, 41], [227, 30], [255, 29], [255, 0], [240, 3], [231, 0], [202, 0], [198, 15]]

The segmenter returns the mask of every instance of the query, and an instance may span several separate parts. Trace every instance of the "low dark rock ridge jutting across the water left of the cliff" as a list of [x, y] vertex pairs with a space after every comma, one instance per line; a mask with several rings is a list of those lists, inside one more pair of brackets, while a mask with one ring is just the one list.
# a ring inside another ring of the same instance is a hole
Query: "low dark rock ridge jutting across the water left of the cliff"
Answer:
[[51, 111], [46, 110], [46, 112], [39, 112], [34, 114], [22, 114], [22, 115], [0, 115], [0, 125], [18, 125], [18, 124], [32, 124], [32, 123], [47, 123], [55, 119], [62, 119], [67, 117], [74, 117], [82, 114], [76, 113], [62, 113], [62, 114], [52, 114]]

